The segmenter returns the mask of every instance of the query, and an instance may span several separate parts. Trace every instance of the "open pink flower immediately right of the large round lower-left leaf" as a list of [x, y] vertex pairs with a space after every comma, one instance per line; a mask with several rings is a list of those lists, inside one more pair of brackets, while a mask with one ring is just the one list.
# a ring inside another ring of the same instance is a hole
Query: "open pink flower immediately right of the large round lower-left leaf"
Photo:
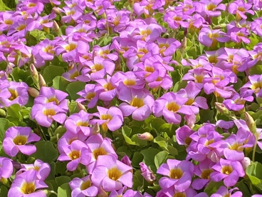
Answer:
[[88, 146], [79, 140], [73, 141], [70, 146], [62, 146], [65, 153], [58, 156], [58, 161], [69, 161], [66, 165], [68, 171], [75, 171], [78, 164], [88, 165], [90, 156], [88, 155]]

